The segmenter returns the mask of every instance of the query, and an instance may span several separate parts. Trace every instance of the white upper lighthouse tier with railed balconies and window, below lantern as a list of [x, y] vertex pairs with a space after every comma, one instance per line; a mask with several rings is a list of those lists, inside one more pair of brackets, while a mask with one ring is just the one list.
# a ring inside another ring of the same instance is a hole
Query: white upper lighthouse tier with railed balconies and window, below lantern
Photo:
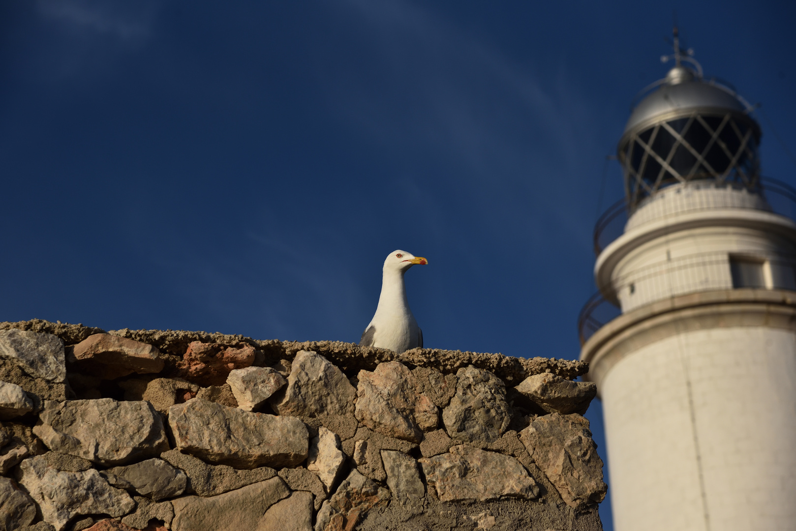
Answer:
[[668, 185], [630, 215], [626, 198], [615, 202], [593, 232], [599, 291], [580, 311], [581, 344], [620, 314], [677, 295], [796, 291], [794, 219], [796, 189], [766, 177], [755, 191], [715, 179]]

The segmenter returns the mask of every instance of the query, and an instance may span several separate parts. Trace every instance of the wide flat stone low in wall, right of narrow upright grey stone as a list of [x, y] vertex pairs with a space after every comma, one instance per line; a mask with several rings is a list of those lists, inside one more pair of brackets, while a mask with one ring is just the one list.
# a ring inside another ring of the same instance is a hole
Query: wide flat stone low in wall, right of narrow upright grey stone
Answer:
[[502, 497], [537, 498], [539, 487], [517, 459], [467, 445], [420, 459], [428, 486], [442, 502], [485, 502]]

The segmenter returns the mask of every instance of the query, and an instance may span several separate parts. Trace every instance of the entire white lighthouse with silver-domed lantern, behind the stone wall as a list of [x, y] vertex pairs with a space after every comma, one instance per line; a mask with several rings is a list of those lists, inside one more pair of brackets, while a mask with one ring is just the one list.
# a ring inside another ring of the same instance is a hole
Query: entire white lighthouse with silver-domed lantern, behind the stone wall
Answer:
[[595, 264], [622, 314], [581, 316], [615, 529], [796, 529], [796, 224], [751, 107], [677, 30], [671, 58], [619, 141], [628, 220]]

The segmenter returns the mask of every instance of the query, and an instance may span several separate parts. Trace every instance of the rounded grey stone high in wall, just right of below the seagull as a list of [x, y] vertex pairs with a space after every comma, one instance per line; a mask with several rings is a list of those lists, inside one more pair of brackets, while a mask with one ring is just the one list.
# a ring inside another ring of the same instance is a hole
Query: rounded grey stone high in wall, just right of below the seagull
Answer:
[[456, 394], [443, 410], [448, 435], [465, 443], [499, 439], [511, 422], [503, 382], [472, 366], [459, 369], [456, 377]]

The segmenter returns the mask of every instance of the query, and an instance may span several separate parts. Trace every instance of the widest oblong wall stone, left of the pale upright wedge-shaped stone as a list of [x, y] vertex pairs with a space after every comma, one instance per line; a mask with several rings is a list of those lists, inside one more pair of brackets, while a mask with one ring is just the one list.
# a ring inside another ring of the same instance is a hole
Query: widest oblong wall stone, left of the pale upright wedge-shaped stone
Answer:
[[171, 406], [169, 425], [179, 450], [236, 468], [295, 467], [309, 451], [309, 433], [301, 420], [201, 398]]

